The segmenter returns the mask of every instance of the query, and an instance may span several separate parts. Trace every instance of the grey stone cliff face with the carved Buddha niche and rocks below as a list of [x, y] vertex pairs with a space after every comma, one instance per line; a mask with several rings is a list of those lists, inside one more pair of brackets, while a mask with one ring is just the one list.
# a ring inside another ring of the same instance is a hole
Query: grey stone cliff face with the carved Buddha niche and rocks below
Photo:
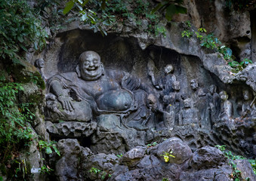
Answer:
[[[167, 23], [166, 37], [131, 22], [103, 37], [74, 22], [42, 53], [27, 54], [31, 64], [45, 61], [45, 120], [35, 131], [58, 141], [61, 158], [47, 160], [55, 179], [233, 180], [227, 158], [211, 146], [255, 158], [255, 10], [228, 11], [221, 0], [184, 4], [188, 14]], [[232, 72], [221, 54], [181, 36], [186, 20], [253, 63]], [[256, 180], [240, 162], [242, 178]]]

